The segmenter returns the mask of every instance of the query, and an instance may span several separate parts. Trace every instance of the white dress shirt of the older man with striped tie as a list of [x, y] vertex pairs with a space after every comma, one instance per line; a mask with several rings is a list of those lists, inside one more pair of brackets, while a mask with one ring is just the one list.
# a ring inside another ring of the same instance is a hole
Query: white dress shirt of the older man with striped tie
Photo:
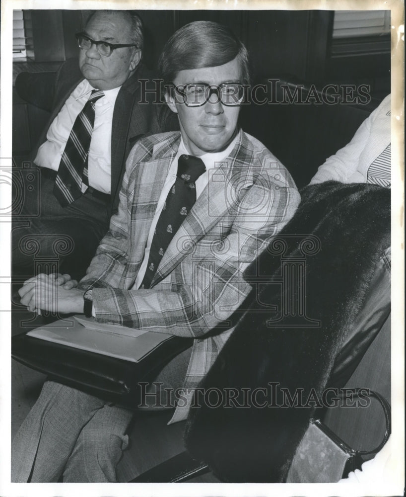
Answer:
[[[88, 159], [89, 186], [103, 193], [110, 193], [111, 190], [111, 129], [120, 88], [104, 90], [104, 96], [94, 104], [95, 117]], [[35, 164], [58, 170], [73, 123], [93, 89], [87, 80], [83, 80], [72, 91], [49, 127], [47, 141], [38, 149]]]

